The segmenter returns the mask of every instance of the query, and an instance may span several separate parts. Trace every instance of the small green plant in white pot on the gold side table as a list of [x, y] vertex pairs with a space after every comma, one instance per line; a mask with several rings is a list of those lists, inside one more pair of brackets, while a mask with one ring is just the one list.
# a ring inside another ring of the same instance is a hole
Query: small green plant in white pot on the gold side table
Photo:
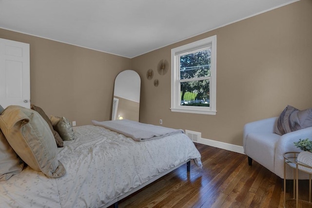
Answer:
[[[312, 141], [308, 138], [306, 139], [299, 139], [298, 142], [293, 143], [295, 147], [302, 150], [298, 156], [297, 161], [312, 167]], [[312, 168], [300, 166], [299, 169], [305, 170], [307, 172], [312, 172]]]

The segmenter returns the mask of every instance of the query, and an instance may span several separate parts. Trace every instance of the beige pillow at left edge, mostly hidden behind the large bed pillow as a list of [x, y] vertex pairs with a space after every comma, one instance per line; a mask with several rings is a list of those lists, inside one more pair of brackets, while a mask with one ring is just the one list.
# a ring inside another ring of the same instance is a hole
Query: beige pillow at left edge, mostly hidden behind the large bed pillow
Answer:
[[0, 181], [8, 180], [12, 175], [23, 170], [24, 162], [6, 141], [0, 130]]

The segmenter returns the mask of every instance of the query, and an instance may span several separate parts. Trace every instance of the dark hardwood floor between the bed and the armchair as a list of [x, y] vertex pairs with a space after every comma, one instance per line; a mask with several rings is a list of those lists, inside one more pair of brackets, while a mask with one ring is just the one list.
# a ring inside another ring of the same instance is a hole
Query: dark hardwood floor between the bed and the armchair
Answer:
[[[191, 162], [118, 203], [119, 208], [283, 208], [282, 179], [247, 156], [196, 144], [203, 169]], [[287, 197], [292, 190], [287, 189]], [[300, 181], [302, 199], [309, 199], [308, 181]], [[299, 197], [300, 198], [300, 197]], [[292, 203], [292, 202], [291, 202]], [[287, 207], [295, 207], [294, 203]], [[300, 208], [312, 208], [300, 203]]]

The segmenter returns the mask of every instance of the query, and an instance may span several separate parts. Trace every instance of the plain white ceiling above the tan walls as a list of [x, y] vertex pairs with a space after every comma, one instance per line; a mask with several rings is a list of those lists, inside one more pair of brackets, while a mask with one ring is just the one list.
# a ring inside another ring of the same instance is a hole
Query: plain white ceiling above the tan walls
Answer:
[[297, 0], [0, 0], [0, 27], [136, 57]]

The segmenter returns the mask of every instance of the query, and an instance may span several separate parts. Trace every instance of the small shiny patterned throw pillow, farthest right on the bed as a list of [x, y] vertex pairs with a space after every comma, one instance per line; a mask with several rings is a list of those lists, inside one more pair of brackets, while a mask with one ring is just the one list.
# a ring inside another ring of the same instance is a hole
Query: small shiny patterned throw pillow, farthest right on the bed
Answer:
[[50, 119], [53, 128], [59, 133], [63, 140], [70, 141], [75, 139], [73, 127], [67, 118], [51, 115]]

